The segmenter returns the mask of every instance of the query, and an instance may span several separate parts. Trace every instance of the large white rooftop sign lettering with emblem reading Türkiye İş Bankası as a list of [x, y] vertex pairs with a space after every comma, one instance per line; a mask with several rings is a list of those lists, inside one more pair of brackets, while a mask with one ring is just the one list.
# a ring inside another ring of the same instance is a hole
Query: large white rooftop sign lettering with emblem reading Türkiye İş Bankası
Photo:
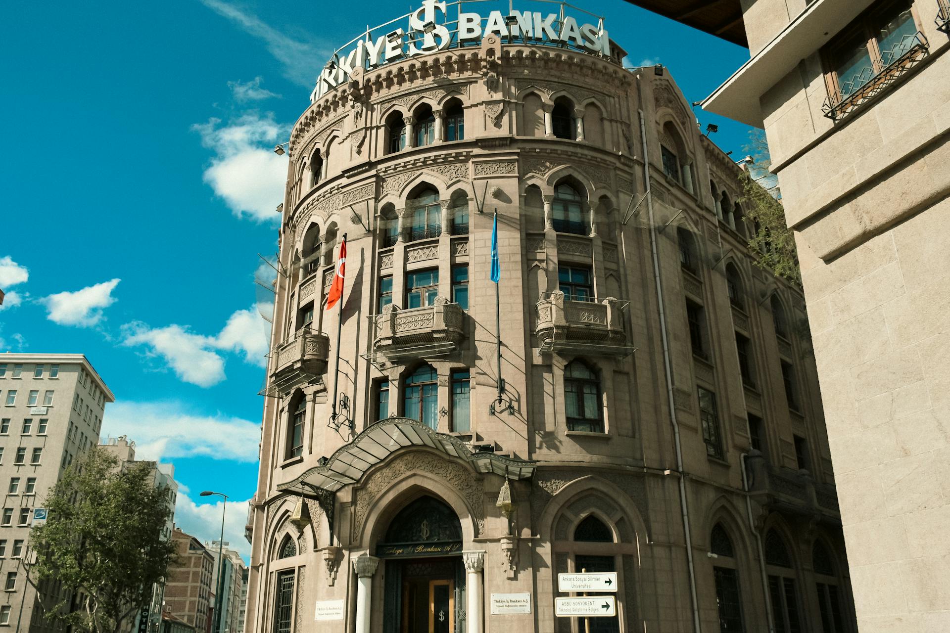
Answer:
[[[461, 3], [451, 4], [461, 7]], [[355, 42], [349, 53], [333, 55], [333, 60], [316, 80], [311, 102], [349, 81], [355, 68], [370, 69], [436, 50], [477, 44], [492, 33], [532, 44], [561, 45], [610, 55], [610, 37], [602, 20], [598, 26], [579, 25], [571, 16], [561, 18], [558, 13], [545, 15], [539, 11], [512, 9], [507, 15], [500, 10], [491, 11], [487, 18], [480, 13], [459, 11], [458, 19], [448, 22], [446, 2], [438, 0], [423, 0], [422, 7], [406, 17], [409, 18], [408, 29], [391, 29], [390, 22], [384, 25], [389, 32], [373, 37], [373, 30], [382, 28], [371, 28]], [[449, 30], [447, 25], [455, 28]]]

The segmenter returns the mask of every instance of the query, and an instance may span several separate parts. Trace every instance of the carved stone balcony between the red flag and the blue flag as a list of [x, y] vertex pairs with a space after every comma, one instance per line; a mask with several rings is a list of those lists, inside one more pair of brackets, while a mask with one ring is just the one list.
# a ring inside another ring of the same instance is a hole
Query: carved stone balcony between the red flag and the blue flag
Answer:
[[371, 362], [430, 358], [453, 351], [465, 338], [465, 310], [436, 297], [431, 306], [402, 309], [394, 305], [370, 317]]

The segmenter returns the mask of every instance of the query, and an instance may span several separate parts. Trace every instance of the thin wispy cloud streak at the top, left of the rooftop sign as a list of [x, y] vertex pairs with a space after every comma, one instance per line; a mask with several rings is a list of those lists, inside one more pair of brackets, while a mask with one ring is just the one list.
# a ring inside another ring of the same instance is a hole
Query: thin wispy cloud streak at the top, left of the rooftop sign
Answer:
[[246, 13], [221, 0], [201, 0], [201, 3], [263, 41], [267, 51], [283, 65], [284, 77], [295, 84], [307, 86], [308, 89], [314, 87], [316, 75], [324, 64], [320, 60], [330, 56], [327, 47], [298, 42], [264, 23], [256, 15]]

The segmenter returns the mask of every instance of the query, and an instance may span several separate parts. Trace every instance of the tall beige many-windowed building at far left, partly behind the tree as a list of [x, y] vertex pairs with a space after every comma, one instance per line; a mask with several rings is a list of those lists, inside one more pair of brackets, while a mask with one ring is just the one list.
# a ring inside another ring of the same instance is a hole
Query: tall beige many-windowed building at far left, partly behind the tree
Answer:
[[[99, 441], [104, 407], [114, 397], [83, 354], [0, 355], [0, 626], [55, 630], [39, 597], [52, 605], [59, 586], [38, 593], [26, 581], [23, 556], [33, 511], [73, 459]], [[67, 596], [66, 596], [67, 597]]]

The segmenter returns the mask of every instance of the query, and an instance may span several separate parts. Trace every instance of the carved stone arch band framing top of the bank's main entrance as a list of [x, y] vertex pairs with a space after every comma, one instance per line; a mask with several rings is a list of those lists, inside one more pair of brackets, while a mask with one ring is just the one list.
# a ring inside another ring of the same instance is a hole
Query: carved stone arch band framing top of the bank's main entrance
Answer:
[[422, 471], [435, 475], [448, 486], [457, 490], [465, 498], [475, 518], [478, 533], [481, 535], [485, 532], [482, 482], [475, 479], [472, 473], [460, 464], [431, 453], [414, 451], [396, 457], [385, 468], [381, 468], [370, 475], [363, 488], [356, 493], [356, 510], [353, 518], [354, 533], [359, 534], [363, 531], [363, 525], [366, 522], [373, 500], [384, 493], [398, 477], [412, 471]]

